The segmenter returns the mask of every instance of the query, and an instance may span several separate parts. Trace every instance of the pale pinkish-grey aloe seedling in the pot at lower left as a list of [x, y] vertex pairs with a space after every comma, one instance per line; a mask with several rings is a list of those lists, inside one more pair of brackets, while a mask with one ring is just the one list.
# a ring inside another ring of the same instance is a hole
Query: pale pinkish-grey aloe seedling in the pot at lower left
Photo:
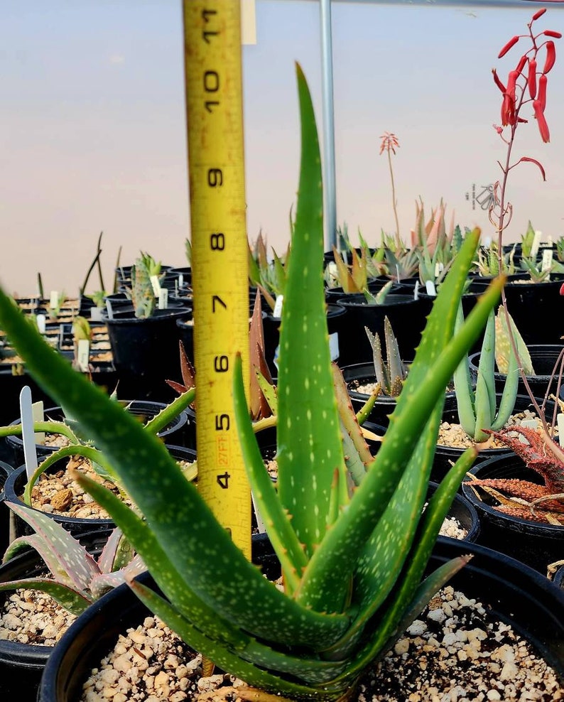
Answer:
[[65, 610], [80, 615], [104, 593], [126, 582], [126, 578], [146, 570], [143, 561], [134, 554], [131, 545], [114, 529], [99, 558], [94, 559], [74, 536], [43, 512], [13, 502], [8, 507], [35, 530], [35, 534], [20, 536], [12, 541], [3, 562], [20, 551], [35, 549], [45, 561], [50, 577], [34, 576], [0, 583], [0, 591], [41, 590], [56, 600]]

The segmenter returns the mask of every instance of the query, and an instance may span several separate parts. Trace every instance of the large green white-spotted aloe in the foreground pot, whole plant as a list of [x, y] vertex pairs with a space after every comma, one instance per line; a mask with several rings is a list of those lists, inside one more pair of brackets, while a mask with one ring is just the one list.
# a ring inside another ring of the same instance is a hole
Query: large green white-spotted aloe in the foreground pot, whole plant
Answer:
[[473, 232], [441, 286], [376, 459], [350, 490], [323, 298], [320, 153], [299, 67], [298, 93], [302, 153], [281, 323], [277, 490], [249, 420], [240, 360], [233, 389], [244, 461], [281, 561], [283, 592], [246, 561], [158, 439], [48, 350], [4, 294], [0, 325], [38, 382], [90, 432], [139, 508], [142, 517], [78, 477], [162, 590], [133, 581], [139, 597], [192, 647], [250, 686], [286, 698], [335, 700], [466, 561], [458, 558], [424, 578], [472, 450], [421, 512], [445, 386], [501, 282], [484, 293], [453, 339], [479, 238]]

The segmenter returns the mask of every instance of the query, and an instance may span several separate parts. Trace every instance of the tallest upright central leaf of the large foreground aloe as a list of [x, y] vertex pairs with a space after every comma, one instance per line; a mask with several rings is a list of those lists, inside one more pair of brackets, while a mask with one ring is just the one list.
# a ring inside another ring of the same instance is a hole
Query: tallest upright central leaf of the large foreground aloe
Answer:
[[280, 332], [278, 495], [309, 557], [327, 530], [334, 471], [345, 469], [345, 459], [327, 344], [318, 134], [305, 77], [296, 71], [302, 153]]

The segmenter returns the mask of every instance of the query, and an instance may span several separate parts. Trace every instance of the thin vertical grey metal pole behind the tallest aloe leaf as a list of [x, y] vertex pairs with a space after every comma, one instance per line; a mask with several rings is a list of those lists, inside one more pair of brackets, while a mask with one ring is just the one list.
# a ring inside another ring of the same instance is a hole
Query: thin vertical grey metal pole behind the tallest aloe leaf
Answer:
[[333, 49], [331, 0], [320, 0], [323, 103], [323, 195], [328, 249], [337, 245], [337, 186], [335, 183], [335, 123], [333, 114]]

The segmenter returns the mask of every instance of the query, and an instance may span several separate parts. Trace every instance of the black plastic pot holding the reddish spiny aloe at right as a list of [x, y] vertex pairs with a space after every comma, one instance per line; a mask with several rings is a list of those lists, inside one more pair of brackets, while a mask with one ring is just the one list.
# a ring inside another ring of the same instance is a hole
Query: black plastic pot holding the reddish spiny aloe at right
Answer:
[[[541, 476], [527, 468], [514, 453], [484, 460], [470, 473], [481, 480], [518, 478], [542, 485]], [[481, 525], [479, 544], [516, 558], [545, 576], [549, 563], [564, 558], [564, 527], [530, 522], [499, 512], [494, 507], [497, 501], [479, 488], [482, 499], [478, 499], [471, 484], [470, 479], [462, 483], [462, 494], [478, 512]]]

